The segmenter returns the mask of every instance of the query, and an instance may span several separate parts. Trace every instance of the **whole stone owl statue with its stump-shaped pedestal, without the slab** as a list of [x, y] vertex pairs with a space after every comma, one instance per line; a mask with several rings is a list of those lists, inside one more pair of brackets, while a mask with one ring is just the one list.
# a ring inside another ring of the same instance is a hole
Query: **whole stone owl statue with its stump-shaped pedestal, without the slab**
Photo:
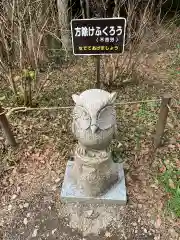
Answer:
[[119, 169], [109, 148], [116, 134], [116, 97], [100, 89], [72, 96], [72, 131], [78, 144], [71, 175], [87, 196], [100, 196], [118, 180]]

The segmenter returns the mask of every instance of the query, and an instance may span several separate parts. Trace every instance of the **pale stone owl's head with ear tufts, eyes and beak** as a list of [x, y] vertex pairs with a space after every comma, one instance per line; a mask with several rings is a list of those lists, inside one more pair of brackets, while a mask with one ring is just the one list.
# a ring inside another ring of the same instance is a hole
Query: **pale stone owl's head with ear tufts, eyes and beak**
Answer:
[[100, 89], [86, 90], [80, 95], [73, 94], [75, 102], [73, 119], [78, 129], [107, 130], [116, 124], [114, 102], [117, 93], [109, 93]]

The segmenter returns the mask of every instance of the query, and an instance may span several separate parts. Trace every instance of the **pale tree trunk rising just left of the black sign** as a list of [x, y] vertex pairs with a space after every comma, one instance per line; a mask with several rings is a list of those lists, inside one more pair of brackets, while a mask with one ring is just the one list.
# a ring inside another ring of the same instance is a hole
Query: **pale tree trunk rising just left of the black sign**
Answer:
[[59, 26], [61, 30], [62, 46], [66, 53], [71, 49], [69, 17], [68, 17], [68, 0], [57, 0]]

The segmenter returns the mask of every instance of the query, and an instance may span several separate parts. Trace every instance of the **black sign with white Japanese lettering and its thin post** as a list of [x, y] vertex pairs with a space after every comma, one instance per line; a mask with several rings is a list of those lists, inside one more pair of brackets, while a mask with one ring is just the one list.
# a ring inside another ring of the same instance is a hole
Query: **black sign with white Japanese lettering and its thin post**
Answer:
[[124, 52], [125, 18], [73, 19], [71, 36], [74, 55], [97, 56], [96, 85], [100, 87], [100, 55]]

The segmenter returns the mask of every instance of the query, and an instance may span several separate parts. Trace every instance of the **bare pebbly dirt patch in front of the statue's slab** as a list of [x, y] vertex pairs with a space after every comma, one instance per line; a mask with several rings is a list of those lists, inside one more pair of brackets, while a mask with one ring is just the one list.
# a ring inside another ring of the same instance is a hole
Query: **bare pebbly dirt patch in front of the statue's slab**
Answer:
[[[23, 209], [17, 207], [11, 224], [2, 229], [3, 239], [162, 239], [143, 204], [64, 205], [58, 190], [22, 202]], [[178, 239], [175, 229], [169, 231], [172, 237], [165, 239]]]

